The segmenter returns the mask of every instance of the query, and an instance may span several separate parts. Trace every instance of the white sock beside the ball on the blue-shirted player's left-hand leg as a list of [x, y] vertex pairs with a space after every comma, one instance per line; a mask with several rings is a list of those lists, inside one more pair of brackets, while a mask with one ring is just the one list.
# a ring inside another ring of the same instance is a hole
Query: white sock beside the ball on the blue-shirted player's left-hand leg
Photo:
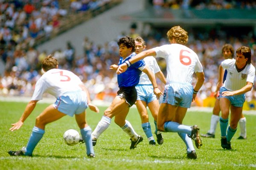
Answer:
[[97, 140], [99, 136], [108, 129], [111, 123], [111, 119], [106, 116], [102, 116], [102, 119], [99, 121], [98, 125], [96, 126], [95, 130], [92, 133], [92, 140]]

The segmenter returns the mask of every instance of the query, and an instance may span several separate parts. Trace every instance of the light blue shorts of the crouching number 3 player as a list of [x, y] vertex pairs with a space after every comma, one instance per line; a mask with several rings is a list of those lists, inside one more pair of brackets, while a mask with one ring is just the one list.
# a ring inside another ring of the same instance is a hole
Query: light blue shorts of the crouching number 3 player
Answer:
[[54, 108], [71, 117], [85, 111], [87, 106], [87, 94], [84, 91], [72, 91], [58, 96]]

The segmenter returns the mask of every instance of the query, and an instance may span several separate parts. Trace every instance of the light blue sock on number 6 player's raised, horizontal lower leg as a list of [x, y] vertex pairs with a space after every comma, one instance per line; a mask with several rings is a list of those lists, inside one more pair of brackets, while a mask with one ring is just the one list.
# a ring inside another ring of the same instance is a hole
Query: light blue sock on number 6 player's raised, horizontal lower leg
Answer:
[[192, 128], [190, 126], [180, 125], [177, 122], [165, 122], [164, 130], [166, 132], [180, 132], [180, 133], [186, 133], [188, 135], [191, 135], [191, 132], [192, 132]]

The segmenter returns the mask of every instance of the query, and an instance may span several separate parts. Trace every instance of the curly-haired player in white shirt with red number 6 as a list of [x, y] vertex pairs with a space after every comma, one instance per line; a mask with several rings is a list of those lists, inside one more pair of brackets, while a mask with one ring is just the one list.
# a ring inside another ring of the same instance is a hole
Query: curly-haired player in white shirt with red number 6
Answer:
[[[204, 83], [203, 66], [198, 55], [185, 46], [188, 42], [188, 33], [180, 26], [172, 27], [167, 36], [171, 44], [142, 51], [128, 62], [134, 63], [147, 56], [162, 57], [166, 59], [166, 85], [163, 100], [157, 116], [157, 130], [162, 132], [176, 132], [186, 144], [188, 159], [197, 159], [192, 139], [197, 148], [202, 143], [197, 125], [182, 125], [186, 111], [195, 100], [196, 94]], [[122, 74], [129, 65], [119, 65], [116, 73]], [[192, 76], [195, 73], [197, 81], [192, 86]]]

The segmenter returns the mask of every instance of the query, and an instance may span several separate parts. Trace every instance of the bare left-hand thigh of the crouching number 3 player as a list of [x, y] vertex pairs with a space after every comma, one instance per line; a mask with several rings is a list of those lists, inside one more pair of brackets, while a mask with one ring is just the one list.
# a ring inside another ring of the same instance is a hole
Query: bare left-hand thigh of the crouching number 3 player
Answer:
[[53, 105], [49, 105], [44, 111], [36, 118], [36, 127], [44, 128], [48, 123], [54, 122], [66, 114], [61, 113], [58, 109], [55, 109]]

